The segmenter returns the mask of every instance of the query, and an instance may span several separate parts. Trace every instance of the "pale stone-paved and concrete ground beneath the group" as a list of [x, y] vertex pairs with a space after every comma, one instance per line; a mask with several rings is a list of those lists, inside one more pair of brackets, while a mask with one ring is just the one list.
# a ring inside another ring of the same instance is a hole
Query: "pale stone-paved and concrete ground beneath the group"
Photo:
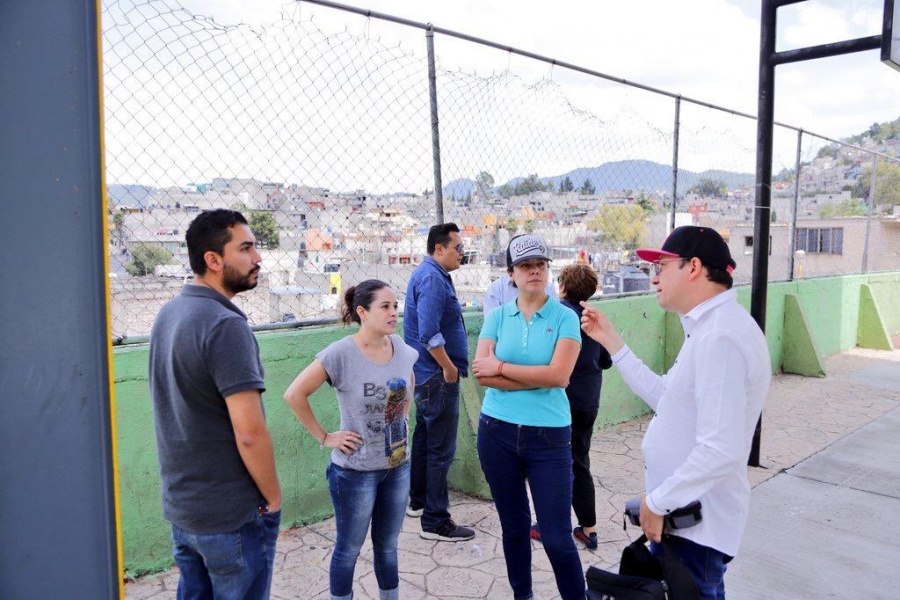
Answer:
[[[725, 578], [732, 600], [896, 598], [900, 565], [900, 351], [855, 349], [826, 360], [828, 377], [779, 375], [763, 411], [760, 468], [741, 551]], [[896, 410], [895, 410], [896, 409]], [[579, 545], [582, 562], [616, 569], [639, 535], [623, 530], [625, 500], [642, 491], [640, 442], [648, 418], [594, 436], [600, 547]], [[455, 544], [418, 536], [407, 518], [400, 538], [401, 598], [510, 598], [493, 506], [454, 493], [454, 519], [476, 530]], [[272, 596], [328, 598], [334, 523], [281, 534]], [[558, 598], [540, 543], [533, 542], [534, 592]], [[356, 569], [356, 598], [378, 597], [371, 546]], [[176, 570], [126, 585], [127, 598], [175, 598]]]

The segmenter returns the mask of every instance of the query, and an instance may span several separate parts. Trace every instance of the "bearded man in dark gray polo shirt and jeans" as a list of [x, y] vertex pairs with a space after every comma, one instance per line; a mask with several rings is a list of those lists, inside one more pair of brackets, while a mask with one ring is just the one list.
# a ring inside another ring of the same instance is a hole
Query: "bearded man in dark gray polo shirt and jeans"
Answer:
[[186, 240], [194, 282], [160, 310], [150, 334], [178, 597], [268, 598], [281, 487], [259, 346], [231, 302], [256, 287], [261, 258], [247, 220], [233, 210], [201, 213]]

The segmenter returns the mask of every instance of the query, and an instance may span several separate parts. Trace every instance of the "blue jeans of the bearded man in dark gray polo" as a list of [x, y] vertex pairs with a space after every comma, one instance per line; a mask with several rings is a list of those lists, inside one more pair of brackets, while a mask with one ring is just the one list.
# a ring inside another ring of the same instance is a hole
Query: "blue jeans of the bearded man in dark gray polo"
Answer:
[[255, 515], [230, 533], [197, 534], [172, 525], [172, 556], [181, 571], [178, 600], [268, 598], [280, 523], [276, 511]]

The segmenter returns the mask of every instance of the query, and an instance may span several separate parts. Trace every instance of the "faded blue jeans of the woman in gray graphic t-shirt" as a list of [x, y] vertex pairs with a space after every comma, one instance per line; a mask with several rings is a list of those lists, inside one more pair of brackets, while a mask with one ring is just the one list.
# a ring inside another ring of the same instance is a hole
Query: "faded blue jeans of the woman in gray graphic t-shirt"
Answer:
[[356, 559], [371, 523], [375, 579], [381, 598], [399, 598], [397, 538], [409, 497], [409, 462], [378, 471], [355, 471], [331, 463], [325, 473], [337, 524], [329, 573], [331, 597], [353, 597]]

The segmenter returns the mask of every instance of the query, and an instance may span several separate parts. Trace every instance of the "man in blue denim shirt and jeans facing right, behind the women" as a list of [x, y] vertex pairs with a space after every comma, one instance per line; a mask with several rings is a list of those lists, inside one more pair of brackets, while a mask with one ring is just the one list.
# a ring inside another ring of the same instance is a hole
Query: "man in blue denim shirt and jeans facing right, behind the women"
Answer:
[[447, 475], [456, 455], [459, 377], [465, 377], [469, 368], [462, 307], [450, 279], [463, 256], [459, 227], [433, 226], [427, 251], [409, 279], [403, 316], [404, 341], [419, 352], [413, 367], [416, 429], [407, 514], [422, 517], [423, 538], [459, 542], [475, 535], [450, 518], [447, 492]]

